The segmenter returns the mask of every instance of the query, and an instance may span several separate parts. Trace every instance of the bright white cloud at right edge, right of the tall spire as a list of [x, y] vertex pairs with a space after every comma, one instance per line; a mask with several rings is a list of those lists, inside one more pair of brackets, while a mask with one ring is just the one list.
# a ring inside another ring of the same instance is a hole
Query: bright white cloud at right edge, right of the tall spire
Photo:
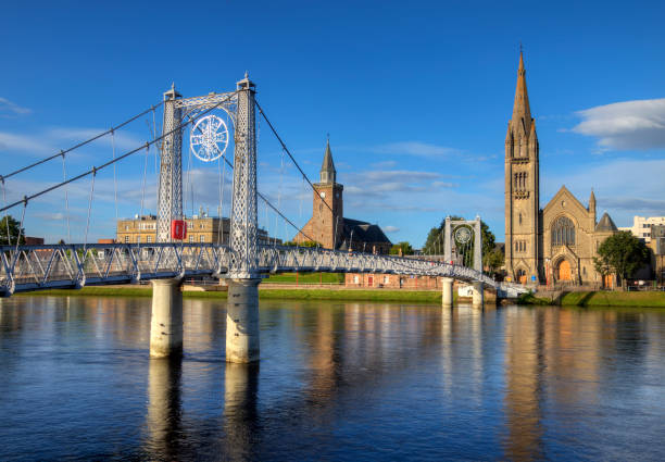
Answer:
[[598, 138], [601, 149], [665, 148], [665, 98], [599, 105], [577, 115], [573, 132]]

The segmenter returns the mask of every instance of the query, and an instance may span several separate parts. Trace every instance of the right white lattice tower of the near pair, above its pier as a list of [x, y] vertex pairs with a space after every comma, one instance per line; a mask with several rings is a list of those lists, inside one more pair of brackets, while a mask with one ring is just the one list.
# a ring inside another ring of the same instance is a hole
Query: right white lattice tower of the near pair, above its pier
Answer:
[[255, 85], [247, 74], [237, 85], [229, 277], [247, 279], [258, 277]]

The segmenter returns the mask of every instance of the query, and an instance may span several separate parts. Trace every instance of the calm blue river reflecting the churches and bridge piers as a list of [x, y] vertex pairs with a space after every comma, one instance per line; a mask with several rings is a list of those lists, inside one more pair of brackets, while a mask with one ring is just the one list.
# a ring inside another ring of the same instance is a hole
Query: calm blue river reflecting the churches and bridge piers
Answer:
[[253, 366], [225, 316], [0, 300], [0, 460], [665, 460], [665, 310], [266, 301]]

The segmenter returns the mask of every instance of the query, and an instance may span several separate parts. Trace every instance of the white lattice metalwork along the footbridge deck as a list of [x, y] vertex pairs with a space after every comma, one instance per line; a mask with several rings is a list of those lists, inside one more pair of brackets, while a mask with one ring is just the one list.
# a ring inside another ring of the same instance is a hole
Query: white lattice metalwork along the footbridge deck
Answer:
[[[477, 282], [512, 297], [528, 291], [470, 267], [436, 261], [290, 246], [256, 250], [254, 277], [275, 272], [385, 273]], [[215, 244], [2, 246], [0, 296], [165, 277], [235, 277], [236, 261], [238, 255], [228, 246]]]

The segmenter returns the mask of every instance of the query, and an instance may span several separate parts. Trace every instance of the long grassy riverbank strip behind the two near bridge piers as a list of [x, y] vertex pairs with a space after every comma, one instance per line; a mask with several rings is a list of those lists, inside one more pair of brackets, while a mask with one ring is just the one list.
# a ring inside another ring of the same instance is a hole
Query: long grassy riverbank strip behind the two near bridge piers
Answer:
[[[16, 296], [59, 297], [151, 297], [150, 287], [84, 287], [79, 290], [59, 289], [17, 294]], [[184, 291], [184, 298], [226, 299], [226, 291]], [[440, 303], [441, 292], [425, 290], [343, 290], [343, 289], [263, 289], [262, 300], [334, 300], [334, 301], [391, 301], [409, 303]]]

